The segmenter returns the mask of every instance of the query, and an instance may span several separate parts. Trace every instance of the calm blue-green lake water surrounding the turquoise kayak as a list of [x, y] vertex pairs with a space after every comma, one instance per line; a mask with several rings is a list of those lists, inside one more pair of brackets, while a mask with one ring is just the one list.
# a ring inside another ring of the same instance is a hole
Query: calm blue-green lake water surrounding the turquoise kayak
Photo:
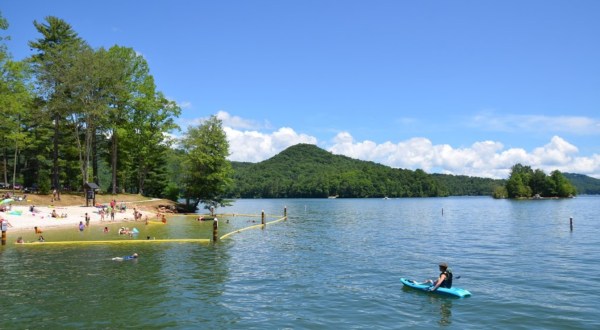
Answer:
[[[217, 245], [10, 240], [0, 248], [0, 328], [600, 328], [600, 197], [239, 200], [218, 211], [284, 206], [288, 221]], [[220, 234], [260, 221], [220, 220]], [[208, 238], [211, 226], [138, 225], [140, 239]], [[44, 234], [106, 237], [100, 227]], [[140, 259], [111, 260], [132, 252]], [[400, 284], [437, 276], [442, 260], [472, 297]]]

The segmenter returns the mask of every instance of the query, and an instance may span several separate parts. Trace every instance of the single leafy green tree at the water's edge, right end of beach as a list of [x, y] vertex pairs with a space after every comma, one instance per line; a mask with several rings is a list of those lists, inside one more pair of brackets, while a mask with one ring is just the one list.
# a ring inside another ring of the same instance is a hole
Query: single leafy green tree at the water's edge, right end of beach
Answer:
[[206, 209], [228, 205], [224, 196], [232, 181], [232, 169], [221, 120], [211, 116], [200, 126], [189, 127], [182, 146], [186, 152], [183, 167], [186, 208], [195, 210], [200, 203]]

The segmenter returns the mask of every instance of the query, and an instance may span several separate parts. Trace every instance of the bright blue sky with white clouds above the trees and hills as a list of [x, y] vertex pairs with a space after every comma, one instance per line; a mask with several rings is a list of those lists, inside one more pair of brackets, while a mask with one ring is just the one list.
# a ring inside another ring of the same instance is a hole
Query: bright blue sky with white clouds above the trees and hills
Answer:
[[132, 47], [180, 125], [224, 122], [232, 160], [313, 143], [392, 167], [504, 178], [520, 162], [600, 178], [600, 1], [4, 1]]

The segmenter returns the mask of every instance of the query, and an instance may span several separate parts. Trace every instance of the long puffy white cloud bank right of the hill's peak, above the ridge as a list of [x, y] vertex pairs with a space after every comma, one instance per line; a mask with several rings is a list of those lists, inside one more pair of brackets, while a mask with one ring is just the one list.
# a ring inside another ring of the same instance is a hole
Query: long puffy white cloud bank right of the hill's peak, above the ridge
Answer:
[[333, 139], [329, 150], [395, 168], [420, 168], [430, 173], [506, 178], [510, 168], [521, 163], [546, 173], [558, 169], [600, 178], [600, 155], [578, 157], [577, 147], [558, 136], [545, 146], [527, 152], [521, 148], [504, 149], [502, 143], [494, 141], [476, 142], [467, 148], [434, 145], [426, 138], [382, 144], [368, 140], [357, 142], [350, 133], [341, 132]]

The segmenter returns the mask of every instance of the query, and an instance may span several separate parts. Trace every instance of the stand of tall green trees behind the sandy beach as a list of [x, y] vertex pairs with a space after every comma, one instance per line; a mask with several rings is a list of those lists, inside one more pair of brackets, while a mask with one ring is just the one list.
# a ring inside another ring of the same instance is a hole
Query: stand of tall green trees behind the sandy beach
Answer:
[[114, 191], [162, 195], [170, 181], [165, 133], [180, 110], [156, 90], [143, 57], [120, 46], [92, 49], [57, 17], [33, 24], [35, 54], [18, 71], [32, 78], [0, 81], [4, 177], [40, 185], [49, 175], [51, 188], [69, 190], [104, 181]]

